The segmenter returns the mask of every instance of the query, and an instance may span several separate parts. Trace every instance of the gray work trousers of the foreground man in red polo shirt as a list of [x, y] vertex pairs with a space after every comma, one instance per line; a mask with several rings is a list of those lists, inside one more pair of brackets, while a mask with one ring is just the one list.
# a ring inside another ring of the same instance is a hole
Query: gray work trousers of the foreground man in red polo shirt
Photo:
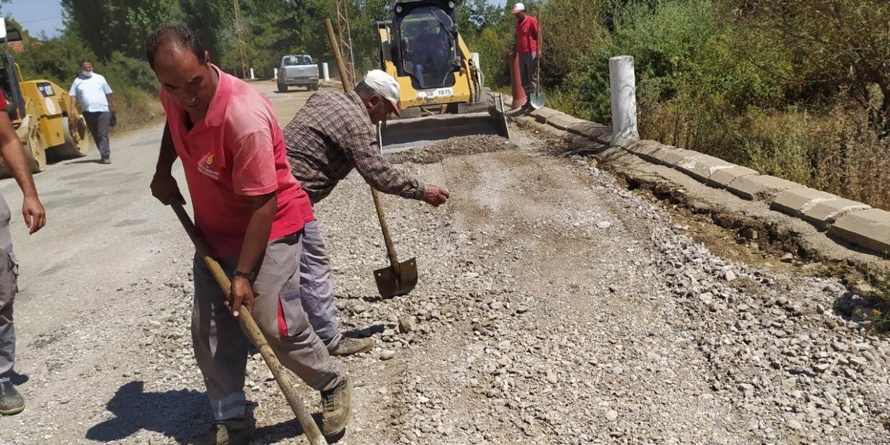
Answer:
[[[328, 391], [346, 376], [303, 312], [299, 257], [303, 231], [274, 239], [266, 247], [254, 282], [254, 319], [281, 364], [317, 391]], [[230, 274], [238, 258], [223, 259]], [[204, 375], [207, 397], [216, 420], [243, 417], [244, 373], [247, 367], [247, 336], [239, 321], [223, 305], [223, 292], [206, 264], [194, 261], [195, 302], [191, 320], [192, 344], [198, 368]]]

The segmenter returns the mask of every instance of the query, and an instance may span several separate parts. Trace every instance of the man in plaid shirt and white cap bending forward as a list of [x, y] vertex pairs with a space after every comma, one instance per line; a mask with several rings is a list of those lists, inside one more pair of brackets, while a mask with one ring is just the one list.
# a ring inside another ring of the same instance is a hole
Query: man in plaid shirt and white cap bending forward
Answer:
[[[380, 153], [371, 125], [386, 120], [390, 113], [398, 116], [398, 103], [399, 83], [379, 69], [368, 72], [351, 93], [316, 93], [306, 101], [284, 128], [284, 139], [291, 172], [313, 205], [326, 198], [352, 168], [384, 193], [431, 206], [448, 200], [447, 190], [418, 182], [390, 166]], [[373, 347], [369, 338], [344, 338], [340, 332], [328, 255], [317, 221], [303, 226], [300, 276], [301, 281], [314, 281], [314, 286], [301, 286], [303, 309], [331, 355], [351, 355]]]

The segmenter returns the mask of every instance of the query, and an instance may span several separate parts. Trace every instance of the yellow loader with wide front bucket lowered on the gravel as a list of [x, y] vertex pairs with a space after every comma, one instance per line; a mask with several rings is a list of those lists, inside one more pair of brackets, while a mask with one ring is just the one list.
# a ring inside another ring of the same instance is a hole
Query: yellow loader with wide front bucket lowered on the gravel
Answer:
[[382, 129], [384, 154], [454, 136], [510, 137], [504, 103], [484, 85], [478, 55], [457, 30], [455, 2], [400, 0], [377, 22], [381, 69], [401, 88], [401, 118]]

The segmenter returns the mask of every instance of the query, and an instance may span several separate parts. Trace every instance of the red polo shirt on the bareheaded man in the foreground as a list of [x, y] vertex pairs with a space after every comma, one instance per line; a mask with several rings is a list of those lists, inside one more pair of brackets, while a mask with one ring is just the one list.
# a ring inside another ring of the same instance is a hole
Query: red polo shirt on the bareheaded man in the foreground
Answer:
[[186, 129], [186, 111], [163, 89], [161, 104], [182, 160], [195, 225], [214, 255], [239, 255], [251, 198], [278, 194], [278, 212], [270, 239], [303, 229], [312, 222], [312, 204], [290, 173], [284, 137], [271, 102], [247, 83], [219, 73], [219, 84], [202, 122]]

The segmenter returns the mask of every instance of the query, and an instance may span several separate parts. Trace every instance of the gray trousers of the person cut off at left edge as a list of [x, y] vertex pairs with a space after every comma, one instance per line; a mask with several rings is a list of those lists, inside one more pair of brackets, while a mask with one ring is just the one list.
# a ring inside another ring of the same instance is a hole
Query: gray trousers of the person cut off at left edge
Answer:
[[11, 217], [6, 200], [0, 196], [0, 380], [8, 380], [15, 362], [15, 327], [12, 303], [18, 291], [19, 264], [12, 255]]

